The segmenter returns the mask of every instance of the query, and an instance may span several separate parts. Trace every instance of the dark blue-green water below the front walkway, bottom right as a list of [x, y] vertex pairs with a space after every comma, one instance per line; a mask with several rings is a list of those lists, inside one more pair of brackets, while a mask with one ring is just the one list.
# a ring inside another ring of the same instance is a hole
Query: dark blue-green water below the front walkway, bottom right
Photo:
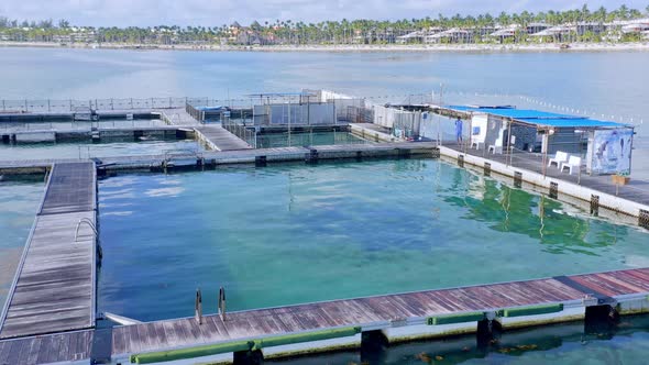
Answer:
[[479, 346], [475, 336], [391, 346], [382, 354], [358, 352], [268, 362], [282, 365], [396, 364], [646, 364], [649, 316], [623, 318], [616, 325], [584, 329], [569, 323], [503, 333]]

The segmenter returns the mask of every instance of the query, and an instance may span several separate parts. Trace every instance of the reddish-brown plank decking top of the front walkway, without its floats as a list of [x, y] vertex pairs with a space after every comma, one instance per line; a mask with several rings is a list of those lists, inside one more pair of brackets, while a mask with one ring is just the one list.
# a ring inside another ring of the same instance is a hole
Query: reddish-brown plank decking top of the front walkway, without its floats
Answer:
[[440, 314], [581, 302], [594, 294], [646, 296], [649, 268], [229, 312], [226, 321], [207, 316], [202, 324], [187, 318], [119, 327], [113, 329], [112, 353], [124, 356], [346, 325], [386, 329]]

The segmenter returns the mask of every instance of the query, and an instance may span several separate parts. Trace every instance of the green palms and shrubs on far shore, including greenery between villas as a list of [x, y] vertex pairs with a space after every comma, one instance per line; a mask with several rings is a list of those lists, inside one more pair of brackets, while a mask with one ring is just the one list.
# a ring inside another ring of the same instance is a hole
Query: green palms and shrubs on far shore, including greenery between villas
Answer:
[[[123, 44], [244, 44], [244, 45], [328, 45], [328, 44], [389, 44], [429, 43], [427, 34], [460, 30], [462, 34], [452, 37], [432, 37], [430, 43], [516, 43], [532, 40], [530, 25], [546, 24], [547, 27], [565, 25], [565, 30], [540, 42], [625, 42], [639, 41], [642, 33], [623, 33], [622, 22], [649, 18], [649, 5], [637, 10], [622, 5], [615, 10], [604, 7], [591, 11], [587, 5], [568, 11], [532, 13], [502, 12], [498, 15], [477, 16], [457, 14], [437, 18], [404, 19], [396, 21], [352, 20], [305, 23], [301, 21], [276, 20], [253, 22], [249, 26], [222, 24], [216, 26], [158, 25], [147, 27], [94, 27], [73, 26], [66, 20], [54, 22], [19, 21], [0, 16], [0, 41], [55, 42], [55, 43], [123, 43]], [[582, 30], [578, 24], [590, 24]], [[600, 27], [596, 25], [600, 24]], [[607, 24], [604, 26], [604, 24]], [[515, 25], [514, 27], [512, 25]], [[493, 32], [510, 27], [507, 36], [493, 36]], [[617, 30], [617, 31], [616, 31]], [[421, 32], [422, 36], [404, 37]], [[612, 33], [613, 32], [613, 33]], [[616, 33], [615, 33], [616, 32]], [[614, 36], [612, 36], [614, 35]]]

